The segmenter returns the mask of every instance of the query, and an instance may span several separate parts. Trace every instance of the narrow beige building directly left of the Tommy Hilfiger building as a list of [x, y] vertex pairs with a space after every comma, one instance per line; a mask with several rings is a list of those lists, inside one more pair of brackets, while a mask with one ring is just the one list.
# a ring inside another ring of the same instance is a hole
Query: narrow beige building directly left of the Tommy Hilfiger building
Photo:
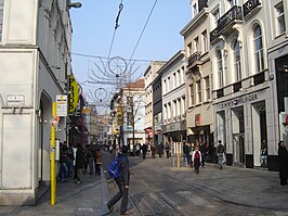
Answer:
[[[193, 16], [181, 30], [184, 36], [186, 65], [187, 141], [213, 145], [212, 72], [209, 42], [209, 11], [207, 1], [193, 0]], [[210, 152], [211, 153], [211, 152]], [[209, 155], [211, 156], [211, 154]]]

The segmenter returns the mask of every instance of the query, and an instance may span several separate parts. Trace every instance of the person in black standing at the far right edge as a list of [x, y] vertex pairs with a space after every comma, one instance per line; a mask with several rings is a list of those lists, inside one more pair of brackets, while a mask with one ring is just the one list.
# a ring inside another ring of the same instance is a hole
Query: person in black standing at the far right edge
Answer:
[[288, 177], [288, 152], [284, 144], [284, 141], [279, 141], [278, 143], [278, 162], [280, 185], [286, 186]]

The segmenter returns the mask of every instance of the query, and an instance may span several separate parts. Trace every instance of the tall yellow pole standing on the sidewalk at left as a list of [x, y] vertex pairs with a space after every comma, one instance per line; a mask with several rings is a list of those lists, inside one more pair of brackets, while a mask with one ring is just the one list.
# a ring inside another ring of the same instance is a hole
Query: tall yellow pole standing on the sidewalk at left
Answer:
[[[56, 116], [56, 102], [52, 105], [52, 117]], [[56, 166], [55, 166], [55, 127], [51, 125], [51, 149], [50, 149], [50, 179], [51, 179], [51, 201], [50, 205], [56, 203]]]

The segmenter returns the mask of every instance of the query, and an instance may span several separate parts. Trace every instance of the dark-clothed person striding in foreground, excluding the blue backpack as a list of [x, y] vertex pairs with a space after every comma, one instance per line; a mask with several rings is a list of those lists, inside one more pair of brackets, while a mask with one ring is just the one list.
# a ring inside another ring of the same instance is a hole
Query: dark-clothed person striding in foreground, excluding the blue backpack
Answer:
[[129, 181], [130, 181], [130, 171], [129, 171], [129, 160], [128, 160], [128, 150], [127, 145], [123, 145], [118, 154], [119, 160], [119, 171], [120, 176], [115, 179], [119, 192], [109, 201], [107, 202], [107, 207], [109, 212], [113, 211], [113, 206], [121, 200], [121, 207], [120, 207], [120, 215], [127, 214], [127, 206], [128, 206], [128, 190], [129, 190]]

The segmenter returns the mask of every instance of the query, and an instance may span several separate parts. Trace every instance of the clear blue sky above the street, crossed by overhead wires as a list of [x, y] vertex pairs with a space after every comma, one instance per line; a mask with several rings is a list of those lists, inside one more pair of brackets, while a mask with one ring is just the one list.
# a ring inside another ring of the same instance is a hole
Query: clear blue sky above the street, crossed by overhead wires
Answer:
[[[114, 31], [121, 1], [123, 10], [119, 16], [120, 26]], [[135, 62], [135, 71], [141, 75], [146, 69], [148, 61], [169, 60], [179, 50], [184, 49], [184, 38], [180, 30], [191, 18], [189, 0], [158, 0], [156, 4], [155, 1], [81, 0], [82, 8], [70, 9], [74, 30], [73, 53], [91, 55], [73, 54], [73, 72], [77, 80], [83, 82], [84, 91], [108, 89], [105, 85], [84, 82], [90, 79], [91, 71], [97, 74], [96, 64], [101, 65], [101, 61], [106, 64], [107, 56], [145, 60]], [[154, 4], [154, 11], [139, 41]], [[135, 52], [132, 54], [134, 49]]]

